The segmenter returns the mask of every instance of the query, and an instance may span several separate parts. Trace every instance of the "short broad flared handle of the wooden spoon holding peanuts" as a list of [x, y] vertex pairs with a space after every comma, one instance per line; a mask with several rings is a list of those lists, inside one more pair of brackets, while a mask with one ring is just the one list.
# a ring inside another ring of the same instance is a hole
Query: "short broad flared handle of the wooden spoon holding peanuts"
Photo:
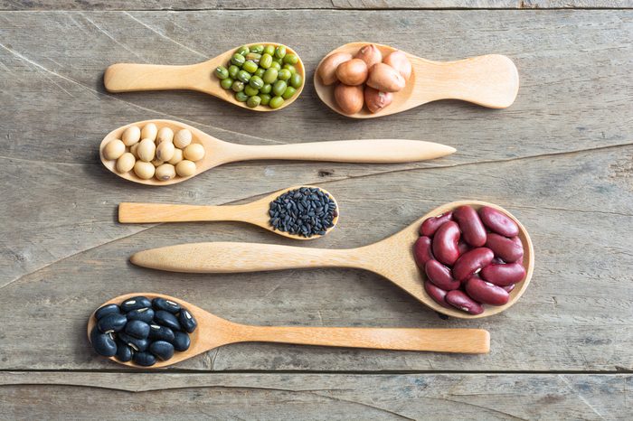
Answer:
[[519, 74], [515, 63], [504, 55], [444, 62], [419, 60], [415, 89], [424, 92], [425, 98], [461, 99], [489, 108], [507, 108], [515, 102]]

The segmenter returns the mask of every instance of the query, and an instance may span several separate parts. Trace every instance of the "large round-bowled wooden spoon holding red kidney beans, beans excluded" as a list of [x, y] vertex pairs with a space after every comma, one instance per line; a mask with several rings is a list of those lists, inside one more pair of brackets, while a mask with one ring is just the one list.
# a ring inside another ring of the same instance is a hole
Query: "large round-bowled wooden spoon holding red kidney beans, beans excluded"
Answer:
[[[482, 206], [490, 206], [504, 212], [519, 226], [519, 239], [524, 247], [523, 264], [527, 272], [524, 281], [517, 284], [510, 293], [507, 304], [485, 305], [484, 313], [477, 315], [437, 304], [424, 290], [423, 281], [426, 276], [416, 266], [413, 258], [413, 243], [419, 237], [422, 221], [462, 205], [470, 205], [476, 210]], [[255, 272], [298, 267], [361, 268], [384, 276], [436, 312], [462, 319], [476, 319], [503, 312], [524, 294], [534, 272], [534, 248], [524, 226], [505, 209], [485, 201], [453, 201], [430, 211], [392, 237], [361, 248], [326, 249], [254, 243], [196, 243], [140, 251], [133, 255], [130, 261], [142, 267], [192, 273]]]

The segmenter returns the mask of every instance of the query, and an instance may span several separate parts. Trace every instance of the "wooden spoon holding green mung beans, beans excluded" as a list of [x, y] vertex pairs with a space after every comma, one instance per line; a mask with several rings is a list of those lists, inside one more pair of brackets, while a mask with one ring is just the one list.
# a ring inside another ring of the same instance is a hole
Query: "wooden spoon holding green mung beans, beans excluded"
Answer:
[[[255, 45], [257, 42], [249, 45]], [[280, 45], [277, 42], [259, 42], [263, 45]], [[299, 55], [296, 51], [288, 46], [288, 53]], [[165, 66], [156, 64], [133, 64], [133, 63], [117, 63], [112, 64], [103, 74], [103, 83], [109, 92], [130, 92], [135, 90], [169, 90], [169, 89], [188, 89], [204, 92], [213, 95], [213, 97], [221, 98], [226, 102], [231, 102], [241, 108], [253, 111], [278, 111], [288, 107], [295, 102], [295, 99], [301, 94], [303, 87], [306, 85], [306, 70], [303, 61], [299, 58], [295, 68], [301, 75], [303, 82], [291, 98], [286, 99], [279, 108], [256, 107], [249, 108], [246, 103], [235, 99], [235, 92], [231, 89], [222, 89], [220, 80], [218, 80], [213, 71], [218, 66], [228, 68], [231, 63], [231, 56], [237, 50], [237, 47], [222, 52], [219, 56], [203, 61], [202, 63], [190, 64], [186, 66]]]

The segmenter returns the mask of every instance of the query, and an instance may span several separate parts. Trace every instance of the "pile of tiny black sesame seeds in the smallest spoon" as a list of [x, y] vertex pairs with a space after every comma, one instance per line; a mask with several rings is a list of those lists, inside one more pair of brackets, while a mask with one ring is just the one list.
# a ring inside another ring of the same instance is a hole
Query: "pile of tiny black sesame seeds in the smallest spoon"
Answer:
[[325, 235], [338, 216], [335, 201], [316, 187], [300, 187], [281, 194], [270, 202], [273, 229], [301, 237]]

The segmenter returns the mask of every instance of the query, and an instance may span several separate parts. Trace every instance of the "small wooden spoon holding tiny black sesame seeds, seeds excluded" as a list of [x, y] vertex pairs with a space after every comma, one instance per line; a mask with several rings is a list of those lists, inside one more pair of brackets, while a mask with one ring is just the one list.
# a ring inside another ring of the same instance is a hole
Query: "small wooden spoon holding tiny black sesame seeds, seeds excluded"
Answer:
[[[194, 205], [175, 205], [175, 204], [159, 204], [159, 203], [128, 203], [123, 202], [118, 205], [118, 221], [124, 224], [129, 223], [146, 223], [146, 222], [194, 222], [194, 221], [213, 221], [213, 220], [232, 220], [238, 222], [247, 222], [257, 225], [263, 229], [288, 237], [288, 239], [318, 239], [322, 236], [316, 234], [312, 237], [302, 237], [289, 234], [279, 229], [273, 229], [270, 225], [269, 204], [281, 194], [300, 187], [317, 188], [325, 192], [335, 203], [334, 196], [325, 189], [309, 185], [300, 185], [288, 187], [288, 189], [274, 192], [268, 196], [258, 200], [245, 203], [243, 205], [224, 205], [224, 206], [194, 206]], [[336, 203], [336, 210], [338, 210]], [[340, 212], [340, 211], [339, 211]], [[332, 222], [334, 226], [326, 229], [326, 234], [335, 228], [339, 215], [336, 215]]]

